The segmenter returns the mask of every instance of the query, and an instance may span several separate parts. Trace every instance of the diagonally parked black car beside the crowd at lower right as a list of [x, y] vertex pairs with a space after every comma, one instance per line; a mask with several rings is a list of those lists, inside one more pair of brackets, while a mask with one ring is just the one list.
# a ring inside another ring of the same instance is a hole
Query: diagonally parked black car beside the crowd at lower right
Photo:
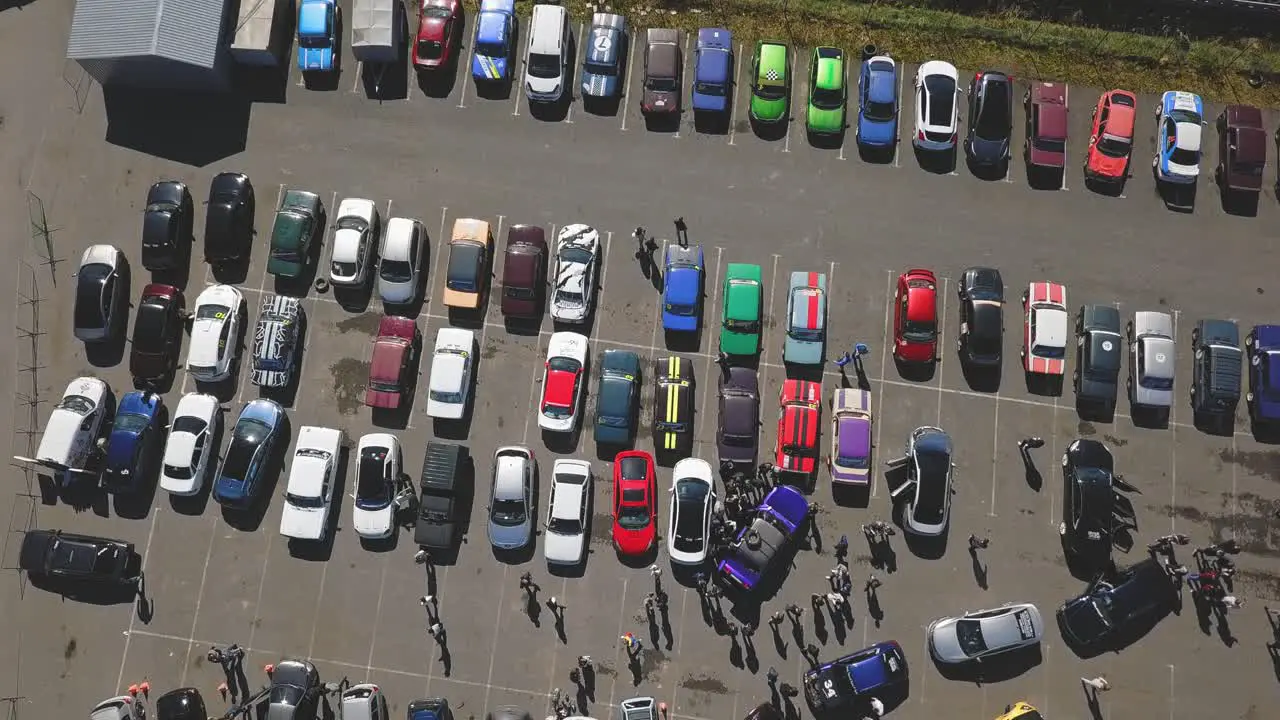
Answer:
[[1057, 626], [1073, 650], [1105, 647], [1140, 623], [1162, 618], [1176, 603], [1178, 585], [1155, 559], [1103, 574], [1084, 594], [1057, 609]]

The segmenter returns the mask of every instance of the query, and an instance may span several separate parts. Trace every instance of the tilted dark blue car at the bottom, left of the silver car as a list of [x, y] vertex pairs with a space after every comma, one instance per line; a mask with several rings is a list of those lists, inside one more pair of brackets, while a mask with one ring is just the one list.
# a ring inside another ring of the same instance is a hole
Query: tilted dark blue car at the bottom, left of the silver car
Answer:
[[876, 643], [804, 674], [804, 698], [817, 716], [856, 716], [870, 698], [899, 693], [908, 684], [906, 655], [893, 641]]

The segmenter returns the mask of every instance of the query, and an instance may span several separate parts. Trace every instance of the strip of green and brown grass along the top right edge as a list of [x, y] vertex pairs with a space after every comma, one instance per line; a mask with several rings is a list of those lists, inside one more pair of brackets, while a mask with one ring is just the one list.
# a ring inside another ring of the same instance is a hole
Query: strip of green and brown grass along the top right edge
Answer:
[[[521, 0], [521, 14], [527, 15], [531, 5]], [[589, 19], [593, 8], [604, 10], [582, 0], [566, 5], [579, 19]], [[778, 38], [800, 47], [840, 45], [850, 51], [874, 44], [908, 63], [942, 59], [957, 68], [1002, 69], [1024, 79], [1135, 92], [1178, 88], [1222, 102], [1280, 105], [1280, 45], [1257, 38], [1183, 41], [1014, 14], [969, 17], [847, 0], [622, 0], [608, 8], [637, 27], [722, 26], [744, 42]], [[1247, 78], [1253, 73], [1267, 82], [1249, 87]]]

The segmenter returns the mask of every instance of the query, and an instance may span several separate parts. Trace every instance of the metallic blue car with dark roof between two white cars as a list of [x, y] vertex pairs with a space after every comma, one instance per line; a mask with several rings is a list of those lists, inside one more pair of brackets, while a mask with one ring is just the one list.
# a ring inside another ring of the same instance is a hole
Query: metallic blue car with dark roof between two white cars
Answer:
[[214, 500], [219, 505], [243, 510], [253, 503], [262, 486], [262, 473], [287, 421], [284, 409], [273, 400], [259, 398], [244, 404], [214, 480]]

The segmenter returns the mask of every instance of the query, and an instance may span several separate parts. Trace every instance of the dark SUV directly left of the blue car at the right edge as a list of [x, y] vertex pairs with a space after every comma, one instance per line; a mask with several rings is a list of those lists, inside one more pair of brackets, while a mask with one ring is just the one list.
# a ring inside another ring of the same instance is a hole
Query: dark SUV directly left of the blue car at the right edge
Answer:
[[1192, 413], [1220, 425], [1235, 424], [1240, 402], [1240, 328], [1231, 320], [1201, 320], [1192, 331]]

